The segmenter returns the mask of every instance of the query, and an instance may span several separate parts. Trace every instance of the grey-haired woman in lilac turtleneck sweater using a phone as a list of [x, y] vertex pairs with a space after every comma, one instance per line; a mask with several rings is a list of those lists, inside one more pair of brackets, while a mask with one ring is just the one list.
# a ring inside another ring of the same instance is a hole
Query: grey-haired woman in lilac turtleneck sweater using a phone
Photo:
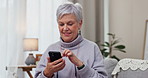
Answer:
[[[107, 78], [98, 46], [79, 31], [82, 27], [82, 7], [65, 3], [57, 9], [60, 41], [50, 45], [37, 65], [35, 78]], [[62, 58], [51, 62], [49, 51], [59, 51]]]

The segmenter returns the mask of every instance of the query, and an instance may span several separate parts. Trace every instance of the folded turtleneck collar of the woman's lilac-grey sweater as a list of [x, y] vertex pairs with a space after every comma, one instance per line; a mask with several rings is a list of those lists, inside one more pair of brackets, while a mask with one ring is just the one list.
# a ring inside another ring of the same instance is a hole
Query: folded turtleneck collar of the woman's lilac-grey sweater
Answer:
[[83, 41], [83, 38], [81, 35], [78, 35], [75, 40], [73, 40], [72, 42], [69, 42], [69, 43], [66, 43], [62, 39], [60, 39], [61, 47], [63, 47], [63, 48], [71, 48], [71, 47], [77, 46], [82, 41]]

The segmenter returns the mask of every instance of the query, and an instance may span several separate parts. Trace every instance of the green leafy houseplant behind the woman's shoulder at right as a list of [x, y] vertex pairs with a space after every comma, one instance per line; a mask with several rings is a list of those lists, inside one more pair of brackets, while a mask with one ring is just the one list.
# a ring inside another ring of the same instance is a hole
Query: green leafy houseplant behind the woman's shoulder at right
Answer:
[[115, 58], [119, 61], [120, 59], [115, 55], [112, 55], [112, 52], [114, 50], [117, 50], [119, 52], [126, 53], [126, 51], [124, 50], [125, 45], [119, 44], [120, 40], [119, 38], [116, 38], [115, 34], [108, 33], [107, 35], [109, 35], [110, 41], [109, 42], [105, 41], [103, 44], [100, 44], [100, 46], [102, 46], [102, 49], [101, 49], [102, 55], [104, 57]]

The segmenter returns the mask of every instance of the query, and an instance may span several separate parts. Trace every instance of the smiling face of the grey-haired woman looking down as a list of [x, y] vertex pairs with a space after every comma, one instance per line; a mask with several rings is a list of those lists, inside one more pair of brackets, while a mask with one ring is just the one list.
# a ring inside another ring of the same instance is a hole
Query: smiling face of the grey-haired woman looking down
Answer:
[[78, 22], [74, 14], [65, 14], [58, 19], [60, 35], [64, 42], [73, 41], [77, 37], [81, 26], [82, 21]]

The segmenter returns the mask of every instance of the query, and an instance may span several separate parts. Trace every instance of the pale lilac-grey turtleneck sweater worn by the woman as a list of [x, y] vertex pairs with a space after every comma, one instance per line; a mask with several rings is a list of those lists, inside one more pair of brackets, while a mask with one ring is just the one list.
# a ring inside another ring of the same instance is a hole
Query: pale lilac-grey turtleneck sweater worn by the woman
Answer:
[[62, 57], [65, 60], [66, 66], [62, 70], [54, 73], [53, 78], [108, 78], [104, 68], [104, 60], [98, 46], [94, 42], [83, 38], [81, 35], [70, 43], [65, 43], [61, 39], [50, 45], [37, 65], [35, 78], [47, 78], [44, 76], [43, 71], [47, 65], [48, 52], [62, 52], [64, 49], [71, 50], [85, 66], [78, 70], [67, 57]]

